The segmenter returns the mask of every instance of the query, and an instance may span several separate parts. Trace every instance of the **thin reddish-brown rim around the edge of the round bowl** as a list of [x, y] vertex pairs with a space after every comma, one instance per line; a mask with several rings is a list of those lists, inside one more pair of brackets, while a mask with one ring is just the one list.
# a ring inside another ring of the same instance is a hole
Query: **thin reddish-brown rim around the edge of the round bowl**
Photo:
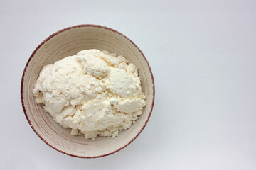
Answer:
[[52, 147], [53, 149], [57, 150], [58, 152], [61, 152], [63, 154], [68, 154], [72, 157], [80, 157], [80, 158], [97, 158], [97, 157], [105, 157], [107, 155], [110, 155], [110, 154], [114, 154], [115, 152], [118, 152], [119, 150], [123, 149], [124, 147], [127, 147], [127, 145], [129, 145], [132, 141], [134, 141], [138, 136], [139, 134], [142, 132], [142, 130], [145, 128], [146, 126], [146, 123], [149, 121], [149, 118], [150, 118], [150, 115], [151, 115], [151, 112], [153, 110], [153, 106], [154, 106], [154, 96], [155, 96], [155, 87], [154, 87], [154, 77], [153, 77], [153, 74], [152, 74], [152, 71], [151, 71], [151, 68], [149, 66], [149, 62], [146, 60], [146, 57], [144, 56], [144, 54], [142, 53], [142, 51], [139, 49], [139, 47], [137, 45], [134, 44], [134, 42], [132, 42], [132, 44], [139, 50], [139, 52], [142, 54], [142, 56], [144, 57], [144, 60], [146, 60], [146, 63], [148, 64], [149, 66], [149, 71], [150, 71], [150, 74], [151, 74], [151, 79], [152, 79], [152, 84], [153, 84], [153, 102], [152, 102], [152, 105], [151, 105], [151, 109], [149, 111], [149, 116], [148, 118], [146, 119], [146, 122], [144, 123], [142, 129], [139, 131], [139, 133], [132, 139], [130, 140], [126, 145], [124, 145], [123, 147], [120, 147], [119, 149], [117, 150], [114, 150], [113, 152], [110, 152], [108, 154], [102, 154], [102, 155], [99, 155], [99, 156], [95, 156], [95, 157], [84, 157], [84, 156], [78, 156], [78, 155], [75, 155], [75, 154], [69, 154], [67, 152], [63, 152], [62, 150], [60, 149], [57, 149], [55, 147], [53, 147], [52, 145], [50, 145], [46, 140], [43, 139], [43, 137], [41, 137], [41, 135], [39, 135], [39, 133], [36, 131], [36, 129], [33, 127], [33, 125], [31, 124], [31, 120], [29, 120], [28, 118], [28, 115], [26, 113], [26, 108], [24, 106], [24, 101], [23, 101], [23, 81], [24, 81], [24, 76], [25, 76], [25, 72], [26, 72], [26, 68], [28, 67], [28, 64], [29, 62], [31, 61], [32, 57], [36, 54], [37, 50], [45, 43], [47, 42], [48, 40], [50, 40], [50, 38], [53, 38], [55, 35], [58, 35], [59, 33], [62, 33], [64, 32], [65, 30], [70, 30], [72, 28], [79, 28], [79, 27], [97, 27], [97, 28], [105, 28], [107, 30], [111, 30], [112, 32], [114, 33], [118, 33], [119, 35], [122, 35], [124, 36], [124, 38], [126, 38], [127, 40], [129, 40], [129, 42], [132, 42], [132, 40], [130, 40], [129, 38], [127, 38], [127, 36], [123, 35], [122, 33], [119, 33], [117, 30], [113, 30], [112, 28], [107, 28], [106, 26], [100, 26], [100, 25], [94, 25], [94, 24], [81, 24], [81, 25], [76, 25], [76, 26], [70, 26], [68, 28], [63, 28], [62, 30], [58, 30], [57, 32], [53, 33], [52, 35], [50, 35], [48, 38], [46, 38], [46, 40], [43, 40], [43, 42], [41, 42], [40, 45], [38, 45], [38, 47], [36, 47], [36, 50], [33, 51], [31, 57], [29, 57], [28, 59], [28, 62], [26, 63], [26, 66], [24, 68], [24, 71], [23, 71], [23, 74], [22, 74], [22, 78], [21, 78], [21, 103], [22, 103], [22, 108], [23, 108], [23, 111], [26, 115], [26, 119], [28, 120], [28, 123], [29, 125], [31, 126], [31, 128], [33, 129], [34, 132], [36, 132], [36, 135], [38, 135], [38, 137], [40, 137], [41, 140], [43, 140], [43, 142], [45, 142], [47, 145], [49, 145], [50, 147]]

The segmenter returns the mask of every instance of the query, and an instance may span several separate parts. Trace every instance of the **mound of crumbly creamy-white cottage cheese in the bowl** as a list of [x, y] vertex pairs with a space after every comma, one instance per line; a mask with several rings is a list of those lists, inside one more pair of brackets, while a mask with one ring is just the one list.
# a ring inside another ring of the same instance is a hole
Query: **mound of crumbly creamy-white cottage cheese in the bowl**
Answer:
[[146, 105], [137, 67], [122, 55], [95, 49], [43, 67], [33, 94], [72, 135], [92, 140], [130, 128]]

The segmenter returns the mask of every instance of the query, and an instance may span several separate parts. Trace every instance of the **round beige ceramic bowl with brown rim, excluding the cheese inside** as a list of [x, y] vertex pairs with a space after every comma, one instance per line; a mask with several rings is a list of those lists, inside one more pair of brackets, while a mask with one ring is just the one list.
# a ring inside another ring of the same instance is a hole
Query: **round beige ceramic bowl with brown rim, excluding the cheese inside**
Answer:
[[[114, 139], [97, 137], [96, 140], [85, 140], [84, 136], [70, 135], [70, 129], [55, 123], [32, 94], [38, 74], [46, 64], [92, 48], [117, 52], [134, 63], [139, 69], [142, 91], [146, 95], [143, 114], [131, 128], [123, 130]], [[154, 79], [142, 51], [122, 33], [105, 26], [72, 26], [50, 35], [32, 53], [21, 80], [21, 102], [31, 128], [47, 145], [74, 157], [103, 157], [129, 145], [144, 129], [154, 105]]]

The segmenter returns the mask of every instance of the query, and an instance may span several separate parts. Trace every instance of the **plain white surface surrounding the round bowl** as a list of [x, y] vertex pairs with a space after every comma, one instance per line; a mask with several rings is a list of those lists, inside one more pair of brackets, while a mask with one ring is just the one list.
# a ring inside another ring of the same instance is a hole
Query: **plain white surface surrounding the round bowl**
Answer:
[[[256, 1], [0, 1], [0, 169], [256, 169]], [[79, 159], [42, 142], [21, 108], [23, 68], [62, 28], [119, 30], [156, 83], [141, 135]]]

